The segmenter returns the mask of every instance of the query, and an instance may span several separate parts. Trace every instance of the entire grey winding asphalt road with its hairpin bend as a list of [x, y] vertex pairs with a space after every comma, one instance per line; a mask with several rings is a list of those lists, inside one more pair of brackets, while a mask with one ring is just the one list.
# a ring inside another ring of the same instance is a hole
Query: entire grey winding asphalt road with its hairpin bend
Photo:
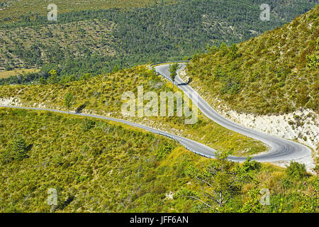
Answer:
[[[183, 70], [186, 66], [185, 64], [180, 64], [181, 69]], [[169, 65], [159, 65], [155, 67], [156, 72], [159, 74], [162, 74], [165, 78], [172, 81], [170, 78], [170, 72], [169, 72]], [[181, 89], [183, 92], [185, 92], [186, 95], [191, 94], [190, 92], [195, 92], [194, 89], [189, 87], [179, 76], [175, 78], [175, 83]], [[198, 94], [197, 94], [198, 95]], [[189, 96], [190, 99], [192, 99], [192, 96]], [[6, 107], [6, 108], [13, 108], [13, 109], [29, 109], [29, 110], [38, 110], [38, 111], [52, 111], [56, 113], [62, 113], [67, 114], [67, 111], [59, 111], [55, 109], [40, 109], [40, 108], [31, 108], [31, 107], [19, 107], [19, 106], [1, 106], [0, 107]], [[289, 160], [300, 160], [304, 157], [310, 157], [311, 150], [307, 148], [306, 146], [303, 146], [301, 144], [295, 143], [290, 140], [284, 140], [281, 138], [276, 138], [272, 135], [267, 135], [265, 133], [259, 133], [257, 131], [252, 131], [248, 128], [242, 127], [240, 125], [237, 125], [236, 123], [233, 123], [232, 121], [229, 121], [226, 118], [223, 118], [223, 116], [220, 116], [201, 96], [198, 95], [198, 109], [202, 111], [203, 114], [208, 116], [208, 118], [211, 118], [211, 120], [215, 121], [216, 123], [220, 124], [220, 126], [223, 126], [225, 128], [228, 128], [232, 131], [235, 131], [237, 133], [240, 133], [242, 135], [247, 135], [250, 138], [254, 138], [256, 140], [260, 140], [267, 144], [270, 147], [270, 150], [268, 153], [265, 153], [263, 155], [257, 155], [254, 156], [253, 159], [257, 160], [259, 162], [276, 162], [276, 161], [289, 161]], [[173, 135], [171, 133], [166, 133], [163, 131], [159, 131], [155, 128], [150, 128], [148, 126], [143, 126], [138, 123], [133, 123], [130, 121], [125, 121], [117, 118], [109, 118], [106, 116], [97, 116], [92, 114], [78, 114], [74, 112], [70, 112], [72, 115], [77, 116], [86, 116], [86, 117], [92, 117], [92, 118], [100, 118], [108, 121], [116, 121], [119, 123], [125, 123], [128, 126], [133, 126], [135, 128], [141, 128], [146, 131], [150, 131], [151, 133], [156, 133], [159, 135], [164, 135], [168, 138], [172, 138], [174, 140], [177, 140], [181, 145], [184, 145], [184, 147], [188, 150], [191, 150], [192, 152], [202, 155], [204, 157], [215, 157], [214, 153], [216, 150], [213, 148], [208, 147], [207, 145], [203, 145], [201, 143], [198, 143], [194, 140], [190, 140], [188, 138], [184, 138], [178, 135]], [[246, 160], [245, 157], [235, 157], [235, 156], [229, 156], [230, 160], [236, 161], [236, 162], [243, 162]]]

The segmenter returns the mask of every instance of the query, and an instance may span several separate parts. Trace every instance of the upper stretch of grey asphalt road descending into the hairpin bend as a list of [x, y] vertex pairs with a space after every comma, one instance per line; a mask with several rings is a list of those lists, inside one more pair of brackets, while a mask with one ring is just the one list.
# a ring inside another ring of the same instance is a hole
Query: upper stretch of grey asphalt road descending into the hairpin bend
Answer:
[[[184, 63], [181, 63], [179, 65], [181, 67], [179, 71], [184, 70], [184, 68], [186, 67], [186, 64]], [[155, 71], [161, 74], [163, 77], [172, 81], [169, 72], [169, 64], [155, 66]], [[300, 160], [305, 157], [311, 157], [310, 148], [304, 145], [295, 143], [291, 140], [276, 138], [272, 135], [253, 131], [249, 128], [245, 128], [224, 118], [223, 116], [218, 114], [194, 89], [186, 84], [178, 75], [177, 77], [175, 77], [174, 83], [177, 84], [177, 87], [185, 92], [185, 94], [189, 96], [190, 99], [192, 99], [192, 96], [189, 94], [196, 94], [198, 97], [198, 109], [201, 110], [201, 112], [208, 118], [211, 118], [211, 120], [218, 123], [220, 126], [228, 128], [231, 131], [235, 131], [242, 135], [247, 135], [250, 138], [260, 140], [263, 143], [267, 144], [270, 148], [269, 152], [263, 155], [254, 156], [254, 160], [257, 160], [259, 162], [276, 162]], [[243, 161], [245, 160], [245, 158], [230, 156], [230, 160]]]

